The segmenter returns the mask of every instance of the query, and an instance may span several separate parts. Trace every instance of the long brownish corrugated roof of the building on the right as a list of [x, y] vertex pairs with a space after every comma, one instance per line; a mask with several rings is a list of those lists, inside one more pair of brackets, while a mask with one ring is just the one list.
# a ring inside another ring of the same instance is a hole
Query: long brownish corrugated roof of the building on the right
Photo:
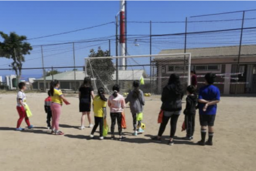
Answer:
[[[186, 52], [191, 53], [192, 58], [237, 56], [239, 54], [239, 46], [193, 48], [187, 49]], [[166, 49], [161, 50], [159, 54], [168, 53], [184, 53], [184, 49]], [[256, 45], [242, 46], [241, 55], [256, 55]]]

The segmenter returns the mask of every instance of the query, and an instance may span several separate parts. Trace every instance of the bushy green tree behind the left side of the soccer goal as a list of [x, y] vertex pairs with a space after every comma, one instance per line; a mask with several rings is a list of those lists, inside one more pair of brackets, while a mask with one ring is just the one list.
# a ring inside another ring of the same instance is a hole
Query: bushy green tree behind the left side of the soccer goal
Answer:
[[[110, 52], [108, 50], [104, 51], [101, 47], [98, 47], [98, 51], [95, 52], [94, 49], [90, 50], [89, 58], [95, 57], [104, 57], [110, 56]], [[105, 87], [113, 80], [113, 74], [115, 71], [112, 59], [93, 59], [87, 60], [87, 74], [91, 78], [96, 79], [96, 86]]]

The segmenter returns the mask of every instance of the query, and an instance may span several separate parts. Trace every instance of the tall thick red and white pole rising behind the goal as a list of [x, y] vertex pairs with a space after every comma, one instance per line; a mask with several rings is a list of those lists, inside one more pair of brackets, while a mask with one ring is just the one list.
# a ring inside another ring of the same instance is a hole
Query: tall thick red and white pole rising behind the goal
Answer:
[[[125, 1], [120, 1], [120, 40], [119, 56], [125, 56]], [[120, 58], [119, 69], [125, 70], [125, 58]]]

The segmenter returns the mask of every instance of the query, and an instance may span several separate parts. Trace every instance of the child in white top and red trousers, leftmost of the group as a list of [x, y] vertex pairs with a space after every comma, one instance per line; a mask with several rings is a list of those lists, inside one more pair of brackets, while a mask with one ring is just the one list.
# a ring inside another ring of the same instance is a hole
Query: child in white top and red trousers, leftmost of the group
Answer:
[[20, 125], [25, 118], [25, 122], [28, 125], [28, 128], [33, 128], [33, 125], [30, 125], [30, 119], [28, 119], [27, 113], [26, 113], [26, 104], [27, 104], [27, 98], [25, 95], [25, 91], [27, 89], [26, 83], [20, 82], [19, 85], [19, 92], [17, 93], [17, 112], [19, 113], [19, 119], [17, 121], [17, 127], [16, 131], [22, 131], [23, 128], [20, 128]]

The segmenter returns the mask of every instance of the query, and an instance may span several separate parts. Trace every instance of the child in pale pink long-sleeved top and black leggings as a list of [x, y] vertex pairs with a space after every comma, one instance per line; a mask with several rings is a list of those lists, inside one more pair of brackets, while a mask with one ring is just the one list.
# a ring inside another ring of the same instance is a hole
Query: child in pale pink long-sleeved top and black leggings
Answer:
[[112, 90], [114, 93], [110, 95], [108, 98], [108, 107], [110, 107], [110, 117], [111, 117], [111, 139], [114, 139], [114, 127], [118, 125], [119, 132], [119, 140], [125, 140], [126, 137], [122, 136], [122, 112], [125, 108], [125, 98], [120, 95], [118, 92], [120, 91], [119, 85], [114, 85]]

